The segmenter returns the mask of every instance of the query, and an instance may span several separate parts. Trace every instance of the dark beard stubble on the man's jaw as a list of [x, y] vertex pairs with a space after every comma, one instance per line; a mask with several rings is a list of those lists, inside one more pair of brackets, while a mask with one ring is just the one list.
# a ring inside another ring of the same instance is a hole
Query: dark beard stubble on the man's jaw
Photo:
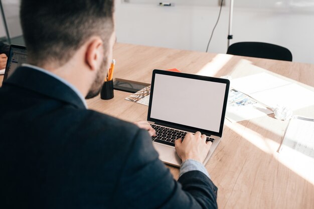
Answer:
[[91, 99], [94, 98], [95, 96], [97, 96], [100, 93], [101, 87], [103, 85], [104, 82], [104, 75], [105, 75], [105, 67], [107, 66], [107, 61], [103, 60], [101, 65], [100, 65], [100, 69], [98, 70], [97, 74], [96, 74], [96, 78], [92, 84], [92, 86], [90, 87], [85, 99]]

